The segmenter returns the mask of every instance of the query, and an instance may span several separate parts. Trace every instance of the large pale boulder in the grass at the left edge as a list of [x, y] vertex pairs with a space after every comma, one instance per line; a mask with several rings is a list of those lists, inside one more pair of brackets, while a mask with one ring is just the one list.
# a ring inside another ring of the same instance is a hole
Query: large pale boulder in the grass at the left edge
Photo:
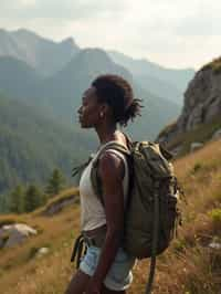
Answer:
[[24, 223], [3, 225], [0, 229], [0, 248], [11, 248], [21, 244], [30, 235], [35, 235], [36, 230]]

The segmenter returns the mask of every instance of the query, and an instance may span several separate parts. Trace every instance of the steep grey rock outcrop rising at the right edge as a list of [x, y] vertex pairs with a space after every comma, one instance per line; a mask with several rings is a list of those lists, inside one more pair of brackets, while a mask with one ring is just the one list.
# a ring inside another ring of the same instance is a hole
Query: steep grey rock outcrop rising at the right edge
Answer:
[[[220, 67], [219, 67], [220, 66]], [[168, 144], [177, 135], [210, 123], [221, 114], [221, 57], [203, 66], [189, 83], [178, 120], [162, 130], [159, 143]]]

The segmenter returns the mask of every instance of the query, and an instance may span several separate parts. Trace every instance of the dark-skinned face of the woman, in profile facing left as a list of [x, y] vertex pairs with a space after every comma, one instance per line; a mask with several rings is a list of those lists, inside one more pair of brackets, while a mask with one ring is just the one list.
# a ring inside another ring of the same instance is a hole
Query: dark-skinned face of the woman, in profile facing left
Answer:
[[78, 108], [78, 122], [82, 128], [95, 127], [101, 123], [99, 113], [102, 112], [102, 103], [98, 103], [96, 88], [90, 87], [82, 97], [82, 106]]

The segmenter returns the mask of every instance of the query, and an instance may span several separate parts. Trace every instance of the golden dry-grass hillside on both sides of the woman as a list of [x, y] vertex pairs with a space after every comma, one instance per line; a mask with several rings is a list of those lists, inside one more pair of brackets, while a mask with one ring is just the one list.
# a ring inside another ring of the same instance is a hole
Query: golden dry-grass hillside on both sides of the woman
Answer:
[[[187, 197], [183, 225], [178, 239], [158, 259], [154, 294], [219, 294], [221, 250], [209, 244], [221, 243], [221, 141], [178, 159], [175, 168]], [[78, 204], [52, 218], [41, 217], [40, 211], [19, 218], [40, 233], [22, 246], [0, 251], [1, 292], [63, 293], [74, 271], [70, 255], [73, 238], [78, 233]], [[0, 218], [0, 223], [6, 217]], [[34, 258], [41, 246], [49, 246], [50, 253]], [[129, 294], [144, 293], [147, 265], [148, 261], [144, 261], [136, 266]]]

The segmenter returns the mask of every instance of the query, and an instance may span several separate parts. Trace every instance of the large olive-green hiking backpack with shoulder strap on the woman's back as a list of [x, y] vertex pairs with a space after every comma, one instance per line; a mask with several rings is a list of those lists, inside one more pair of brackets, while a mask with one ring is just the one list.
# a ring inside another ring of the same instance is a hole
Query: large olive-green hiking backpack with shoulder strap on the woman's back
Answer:
[[[150, 293], [156, 255], [169, 246], [181, 220], [177, 178], [169, 161], [172, 156], [160, 145], [149, 141], [129, 141], [129, 151], [120, 144], [109, 143], [99, 156], [107, 149], [118, 150], [128, 159], [130, 179], [123, 246], [137, 259], [151, 258], [146, 290]], [[91, 179], [97, 197], [103, 201], [97, 172], [99, 156], [93, 162]]]

